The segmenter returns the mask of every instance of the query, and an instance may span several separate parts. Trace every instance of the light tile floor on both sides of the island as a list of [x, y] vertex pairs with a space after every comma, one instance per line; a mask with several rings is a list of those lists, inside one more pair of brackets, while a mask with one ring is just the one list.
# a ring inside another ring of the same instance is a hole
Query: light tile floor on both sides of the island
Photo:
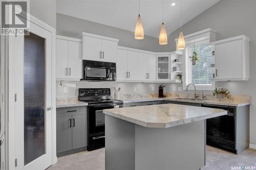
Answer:
[[[246, 150], [239, 155], [207, 146], [206, 166], [202, 170], [225, 170], [231, 166], [252, 166], [256, 170], [256, 151]], [[84, 151], [58, 158], [58, 162], [47, 170], [102, 170], [105, 150]], [[242, 168], [243, 169], [243, 168]], [[160, 169], [159, 169], [160, 170]]]

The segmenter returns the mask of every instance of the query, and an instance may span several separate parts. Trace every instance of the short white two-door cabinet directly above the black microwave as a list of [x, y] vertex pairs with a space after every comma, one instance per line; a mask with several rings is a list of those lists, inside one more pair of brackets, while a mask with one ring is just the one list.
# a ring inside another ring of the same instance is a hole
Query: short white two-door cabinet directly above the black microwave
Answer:
[[83, 60], [117, 62], [118, 39], [82, 33]]

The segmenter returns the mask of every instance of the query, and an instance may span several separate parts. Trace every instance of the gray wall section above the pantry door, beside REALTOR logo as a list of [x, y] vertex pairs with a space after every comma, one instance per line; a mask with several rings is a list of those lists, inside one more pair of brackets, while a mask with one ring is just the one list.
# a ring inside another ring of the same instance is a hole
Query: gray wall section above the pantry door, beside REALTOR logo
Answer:
[[30, 14], [56, 28], [56, 0], [30, 0]]

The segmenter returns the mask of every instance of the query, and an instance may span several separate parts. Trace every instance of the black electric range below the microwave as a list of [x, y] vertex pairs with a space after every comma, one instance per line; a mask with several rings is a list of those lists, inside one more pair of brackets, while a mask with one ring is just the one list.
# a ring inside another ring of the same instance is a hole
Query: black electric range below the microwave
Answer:
[[105, 147], [103, 109], [121, 108], [123, 101], [111, 99], [110, 88], [79, 88], [78, 101], [87, 102], [88, 151]]

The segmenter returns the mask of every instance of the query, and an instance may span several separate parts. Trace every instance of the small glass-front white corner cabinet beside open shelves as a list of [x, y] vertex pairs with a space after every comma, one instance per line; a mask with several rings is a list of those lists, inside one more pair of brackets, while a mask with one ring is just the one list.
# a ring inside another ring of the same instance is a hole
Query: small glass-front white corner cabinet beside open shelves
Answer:
[[170, 81], [170, 55], [157, 55], [157, 80]]

